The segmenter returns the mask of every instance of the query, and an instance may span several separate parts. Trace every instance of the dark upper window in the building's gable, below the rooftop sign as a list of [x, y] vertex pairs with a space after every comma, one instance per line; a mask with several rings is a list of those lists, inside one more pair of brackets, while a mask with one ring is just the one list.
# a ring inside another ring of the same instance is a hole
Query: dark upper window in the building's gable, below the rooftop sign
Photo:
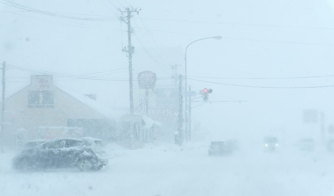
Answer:
[[53, 92], [49, 90], [31, 90], [28, 94], [28, 108], [52, 108]]

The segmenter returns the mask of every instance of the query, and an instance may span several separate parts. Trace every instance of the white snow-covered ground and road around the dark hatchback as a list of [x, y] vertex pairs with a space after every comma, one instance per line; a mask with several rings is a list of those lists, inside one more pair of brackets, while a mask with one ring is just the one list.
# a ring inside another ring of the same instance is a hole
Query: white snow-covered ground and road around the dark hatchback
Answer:
[[0, 154], [0, 195], [333, 195], [334, 154], [242, 148], [208, 156], [206, 143], [107, 147], [113, 158], [98, 172], [18, 172], [15, 151]]

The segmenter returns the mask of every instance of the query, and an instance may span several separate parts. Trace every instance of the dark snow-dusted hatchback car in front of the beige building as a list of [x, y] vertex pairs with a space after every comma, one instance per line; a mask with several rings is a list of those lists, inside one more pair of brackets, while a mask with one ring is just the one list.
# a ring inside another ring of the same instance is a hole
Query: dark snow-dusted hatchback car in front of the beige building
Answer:
[[100, 170], [108, 164], [101, 140], [63, 138], [49, 140], [23, 150], [13, 160], [15, 169], [78, 167], [82, 171]]

